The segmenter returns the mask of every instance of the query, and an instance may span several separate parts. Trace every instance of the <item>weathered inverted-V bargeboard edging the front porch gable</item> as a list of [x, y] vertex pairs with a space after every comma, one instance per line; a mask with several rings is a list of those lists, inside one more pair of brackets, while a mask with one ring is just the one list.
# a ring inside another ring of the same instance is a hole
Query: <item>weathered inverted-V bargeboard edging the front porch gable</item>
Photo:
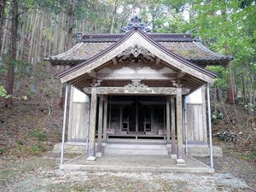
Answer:
[[162, 61], [166, 61], [170, 66], [176, 67], [178, 70], [188, 73], [196, 79], [201, 79], [204, 82], [212, 83], [216, 74], [209, 72], [208, 70], [198, 67], [195, 64], [183, 59], [180, 55], [166, 49], [160, 43], [154, 41], [153, 38], [148, 36], [147, 33], [140, 29], [134, 28], [131, 32], [127, 32], [123, 38], [120, 38], [118, 42], [112, 44], [108, 49], [90, 57], [87, 61], [81, 64], [67, 69], [60, 73], [58, 77], [61, 78], [61, 82], [68, 82], [72, 79], [79, 78], [84, 73], [90, 73], [97, 67], [101, 67], [107, 61], [111, 61], [115, 56], [122, 53], [125, 49], [139, 44], [143, 48], [148, 49], [149, 52], [160, 58]]

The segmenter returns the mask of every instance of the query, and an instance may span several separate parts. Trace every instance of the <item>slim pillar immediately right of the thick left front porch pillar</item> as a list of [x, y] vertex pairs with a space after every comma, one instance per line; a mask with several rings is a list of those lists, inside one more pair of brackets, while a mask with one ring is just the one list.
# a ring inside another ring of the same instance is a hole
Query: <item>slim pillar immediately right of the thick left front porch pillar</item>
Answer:
[[100, 96], [99, 114], [98, 114], [98, 143], [97, 143], [97, 157], [102, 156], [102, 124], [103, 124], [103, 96]]

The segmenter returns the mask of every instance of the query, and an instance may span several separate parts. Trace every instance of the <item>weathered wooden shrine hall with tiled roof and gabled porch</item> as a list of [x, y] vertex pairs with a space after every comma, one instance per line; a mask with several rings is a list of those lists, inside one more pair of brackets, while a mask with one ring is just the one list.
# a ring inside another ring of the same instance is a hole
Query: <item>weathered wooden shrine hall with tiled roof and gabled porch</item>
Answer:
[[82, 146], [87, 160], [94, 161], [112, 141], [132, 145], [133, 140], [164, 143], [177, 164], [198, 148], [212, 154], [205, 85], [209, 90], [217, 76], [205, 67], [226, 65], [230, 57], [212, 52], [191, 34], [151, 33], [138, 17], [122, 31], [79, 33], [72, 49], [48, 59], [53, 66], [70, 66], [58, 74], [67, 83], [61, 157], [65, 146]]

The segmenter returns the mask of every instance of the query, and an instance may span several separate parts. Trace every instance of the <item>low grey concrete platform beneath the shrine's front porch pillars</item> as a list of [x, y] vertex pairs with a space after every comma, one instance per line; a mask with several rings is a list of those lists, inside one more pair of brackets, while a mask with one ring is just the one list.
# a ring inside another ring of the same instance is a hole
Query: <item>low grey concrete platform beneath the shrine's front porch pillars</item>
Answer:
[[186, 156], [184, 160], [186, 164], [180, 166], [170, 155], [107, 154], [91, 163], [87, 161], [87, 156], [82, 154], [64, 162], [60, 169], [102, 172], [214, 172], [210, 166], [192, 157]]

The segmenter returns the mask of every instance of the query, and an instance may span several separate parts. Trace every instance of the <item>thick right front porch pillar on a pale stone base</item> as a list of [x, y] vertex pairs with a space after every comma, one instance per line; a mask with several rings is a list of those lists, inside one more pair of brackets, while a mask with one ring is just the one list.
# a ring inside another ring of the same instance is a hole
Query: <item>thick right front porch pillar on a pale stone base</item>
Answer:
[[177, 164], [184, 164], [183, 160], [183, 100], [182, 88], [177, 87], [176, 95], [176, 122], [177, 122]]

